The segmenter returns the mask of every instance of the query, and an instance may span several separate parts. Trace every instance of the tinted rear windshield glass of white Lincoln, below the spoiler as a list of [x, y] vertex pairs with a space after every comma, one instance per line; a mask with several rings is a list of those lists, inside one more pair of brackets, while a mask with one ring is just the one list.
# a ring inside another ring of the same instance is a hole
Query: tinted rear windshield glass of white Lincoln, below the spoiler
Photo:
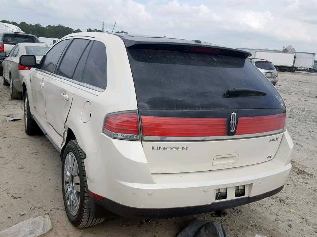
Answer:
[[[285, 107], [271, 82], [244, 57], [197, 51], [200, 52], [134, 46], [127, 48], [138, 108], [192, 110]], [[227, 90], [234, 88], [264, 93], [225, 96]]]

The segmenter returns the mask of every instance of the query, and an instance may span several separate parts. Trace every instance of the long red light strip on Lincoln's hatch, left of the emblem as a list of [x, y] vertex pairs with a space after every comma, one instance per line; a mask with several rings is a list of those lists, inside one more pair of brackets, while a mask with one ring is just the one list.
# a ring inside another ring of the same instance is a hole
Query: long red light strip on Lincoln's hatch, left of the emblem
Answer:
[[[210, 137], [227, 135], [227, 118], [141, 116], [143, 138]], [[148, 138], [151, 139], [151, 138]]]

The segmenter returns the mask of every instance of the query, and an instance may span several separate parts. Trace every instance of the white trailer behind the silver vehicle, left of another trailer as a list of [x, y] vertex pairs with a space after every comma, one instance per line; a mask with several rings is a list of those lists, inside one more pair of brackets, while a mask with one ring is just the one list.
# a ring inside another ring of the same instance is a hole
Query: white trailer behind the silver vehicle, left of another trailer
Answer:
[[277, 71], [295, 71], [295, 53], [256, 51], [255, 58], [271, 61]]

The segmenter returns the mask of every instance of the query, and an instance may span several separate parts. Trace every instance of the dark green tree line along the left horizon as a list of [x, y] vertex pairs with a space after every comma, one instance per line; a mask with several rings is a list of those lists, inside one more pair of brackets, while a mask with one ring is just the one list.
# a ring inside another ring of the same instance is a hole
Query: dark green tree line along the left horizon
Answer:
[[[14, 21], [7, 21], [2, 20], [0, 22], [8, 23], [20, 27], [22, 31], [27, 34], [36, 35], [37, 37], [49, 37], [49, 38], [62, 38], [68, 34], [82, 32], [79, 28], [74, 30], [71, 27], [63, 26], [58, 24], [56, 25], [48, 25], [48, 26], [41, 26], [40, 24], [27, 24], [26, 22], [22, 21], [20, 23]], [[88, 28], [87, 32], [103, 32], [102, 30], [98, 29], [91, 29]], [[107, 32], [107, 31], [106, 31]], [[127, 33], [125, 31], [116, 31], [116, 33]]]

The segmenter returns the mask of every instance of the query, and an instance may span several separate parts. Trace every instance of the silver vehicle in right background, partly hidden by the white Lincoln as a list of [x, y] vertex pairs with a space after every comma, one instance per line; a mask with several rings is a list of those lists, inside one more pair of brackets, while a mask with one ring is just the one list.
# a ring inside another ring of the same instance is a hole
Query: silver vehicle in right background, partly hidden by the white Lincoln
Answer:
[[248, 60], [255, 65], [260, 72], [272, 82], [273, 85], [277, 83], [278, 74], [272, 62], [261, 58], [248, 58]]

